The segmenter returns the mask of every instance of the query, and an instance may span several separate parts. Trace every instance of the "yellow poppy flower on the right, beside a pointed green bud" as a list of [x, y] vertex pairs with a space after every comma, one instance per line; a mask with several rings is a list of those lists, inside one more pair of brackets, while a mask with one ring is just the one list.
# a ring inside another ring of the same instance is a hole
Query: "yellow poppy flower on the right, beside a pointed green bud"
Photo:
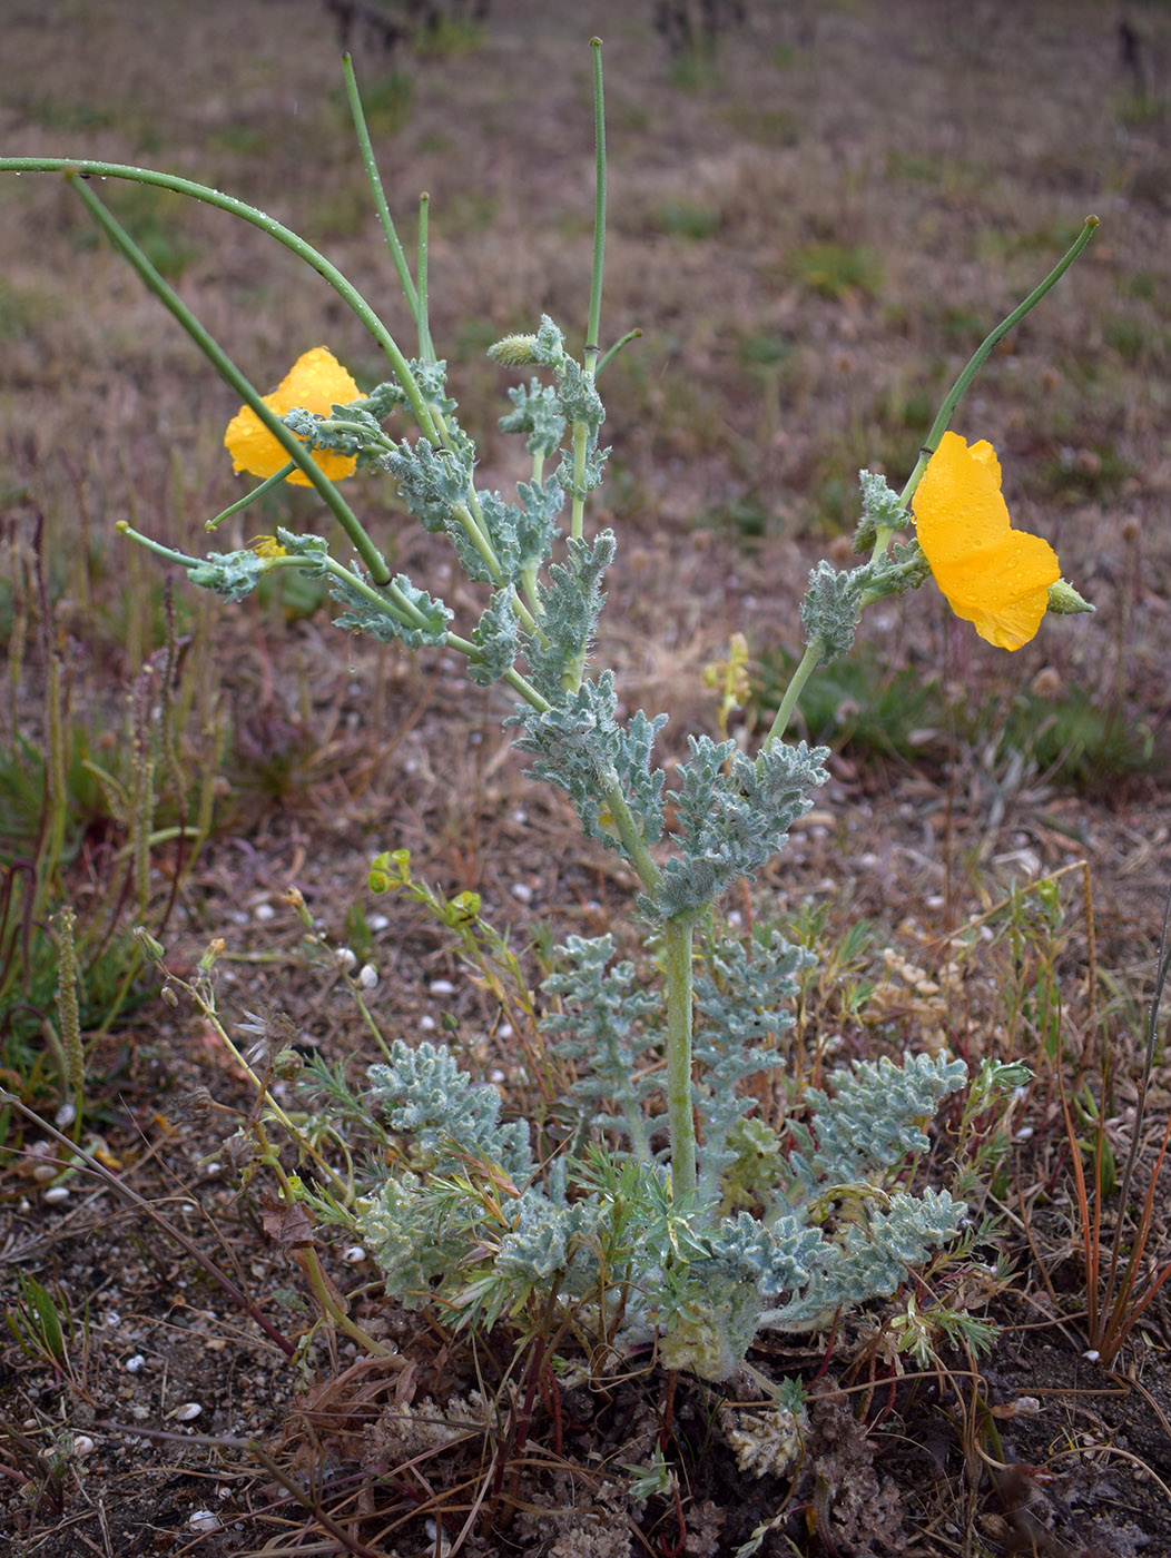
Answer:
[[956, 615], [1001, 650], [1028, 643], [1062, 570], [1048, 541], [1012, 528], [992, 444], [968, 449], [945, 433], [912, 502], [918, 544]]

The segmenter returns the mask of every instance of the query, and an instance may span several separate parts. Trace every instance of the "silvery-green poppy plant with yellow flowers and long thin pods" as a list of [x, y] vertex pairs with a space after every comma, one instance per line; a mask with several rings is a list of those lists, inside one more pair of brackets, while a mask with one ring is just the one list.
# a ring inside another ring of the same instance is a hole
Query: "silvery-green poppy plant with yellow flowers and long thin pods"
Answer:
[[[817, 949], [778, 929], [741, 936], [719, 905], [783, 851], [826, 779], [826, 749], [787, 740], [786, 731], [814, 670], [851, 650], [867, 606], [934, 578], [956, 614], [1006, 650], [1028, 642], [1046, 611], [1088, 609], [1060, 580], [1048, 542], [1012, 528], [992, 447], [968, 446], [948, 424], [996, 341], [1063, 274], [1096, 220], [1087, 220], [1062, 262], [976, 351], [901, 492], [859, 474], [861, 561], [811, 572], [800, 611], [805, 651], [755, 748], [691, 734], [688, 760], [667, 788], [656, 760], [666, 714], [625, 712], [616, 671], [591, 667], [617, 550], [611, 530], [588, 523], [608, 453], [599, 383], [636, 333], [603, 347], [600, 45], [594, 41], [597, 204], [583, 346], [575, 354], [546, 316], [490, 351], [502, 369], [524, 375], [508, 390], [511, 408], [501, 421], [525, 452], [515, 500], [477, 485], [476, 444], [458, 424], [432, 341], [427, 201], [412, 273], [349, 62], [346, 72], [374, 201], [415, 323], [412, 358], [324, 256], [242, 201], [143, 168], [0, 159], [0, 171], [64, 170], [103, 232], [239, 393], [243, 405], [226, 442], [237, 471], [260, 485], [228, 513], [285, 480], [313, 488], [352, 556], [341, 561], [323, 534], [284, 525], [246, 548], [204, 558], [164, 547], [129, 523], [119, 528], [228, 601], [273, 575], [301, 573], [340, 603], [337, 623], [348, 633], [462, 657], [476, 687], [507, 698], [504, 724], [530, 776], [568, 798], [585, 837], [616, 854], [639, 891], [628, 927], [568, 936], [554, 950], [540, 1011], [530, 996], [521, 999], [535, 1080], [546, 1064], [560, 1069], [550, 1087], [555, 1106], [546, 1098], [532, 1117], [513, 1117], [497, 1089], [477, 1084], [449, 1045], [377, 1038], [382, 1059], [362, 1091], [337, 1070], [310, 1067], [324, 1105], [306, 1123], [270, 1086], [301, 1070], [285, 1042], [287, 1024], [270, 1014], [249, 1019], [254, 1042], [240, 1055], [262, 1100], [246, 1122], [249, 1156], [240, 1161], [246, 1178], [264, 1168], [278, 1184], [274, 1235], [298, 1251], [321, 1315], [363, 1348], [379, 1351], [331, 1292], [312, 1218], [360, 1235], [394, 1299], [457, 1327], [508, 1321], [530, 1337], [571, 1327], [588, 1338], [591, 1354], [600, 1343], [720, 1380], [761, 1329], [822, 1327], [844, 1309], [895, 1293], [964, 1218], [962, 1201], [917, 1181], [915, 1165], [940, 1102], [967, 1084], [965, 1063], [943, 1052], [907, 1055], [901, 1064], [854, 1061], [822, 1086], [806, 1086], [784, 1119], [762, 1117], [753, 1089], [789, 1070], [791, 1008]], [[278, 391], [260, 396], [87, 174], [189, 195], [278, 238], [352, 308], [390, 377], [363, 394], [329, 351], [315, 347]], [[848, 251], [806, 251], [801, 265], [826, 296], [872, 285], [870, 262]], [[390, 474], [424, 530], [448, 538], [480, 592], [477, 614], [457, 626], [454, 606], [393, 572], [340, 489], [356, 471]], [[404, 851], [380, 854], [370, 885], [415, 896], [463, 939], [485, 977], [494, 969], [501, 989], [516, 983], [518, 969], [502, 938], [479, 919], [479, 905], [419, 887]], [[162, 966], [156, 943], [151, 957]], [[215, 957], [209, 950], [190, 989], [204, 1017], [218, 1024]], [[231, 1042], [221, 1024], [218, 1031]], [[296, 1144], [312, 1173], [304, 1162], [290, 1168], [285, 1142]], [[332, 1153], [341, 1154], [341, 1167]], [[658, 1479], [653, 1469], [647, 1475]]]

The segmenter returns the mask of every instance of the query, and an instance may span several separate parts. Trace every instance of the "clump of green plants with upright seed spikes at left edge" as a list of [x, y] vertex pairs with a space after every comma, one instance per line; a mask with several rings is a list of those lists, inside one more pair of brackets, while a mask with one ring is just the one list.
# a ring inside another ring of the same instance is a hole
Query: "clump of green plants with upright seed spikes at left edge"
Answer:
[[[61, 1120], [83, 1128], [86, 1053], [142, 999], [142, 958], [126, 913], [165, 924], [210, 829], [209, 754], [192, 784], [184, 734], [195, 687], [181, 668], [170, 586], [165, 642], [137, 673], [117, 724], [86, 707], [45, 603], [42, 548], [11, 545], [8, 723], [0, 749], [0, 1066], [25, 1098], [56, 1094]], [[30, 662], [44, 704], [20, 698]], [[25, 734], [28, 729], [30, 734]], [[151, 860], [176, 851], [159, 899]]]

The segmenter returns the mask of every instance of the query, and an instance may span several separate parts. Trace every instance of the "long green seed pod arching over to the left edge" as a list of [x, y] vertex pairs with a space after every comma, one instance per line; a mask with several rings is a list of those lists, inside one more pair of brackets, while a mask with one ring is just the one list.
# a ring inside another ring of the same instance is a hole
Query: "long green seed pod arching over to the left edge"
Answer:
[[429, 438], [438, 436], [430, 408], [423, 399], [418, 380], [410, 371], [410, 363], [357, 287], [324, 254], [320, 254], [312, 243], [306, 243], [292, 227], [285, 227], [284, 223], [276, 221], [274, 217], [268, 217], [257, 206], [235, 199], [234, 195], [223, 195], [206, 184], [196, 184], [193, 179], [181, 179], [175, 173], [157, 173], [154, 168], [139, 168], [128, 162], [94, 162], [78, 157], [0, 157], [0, 173], [65, 173], [83, 179], [129, 179], [134, 184], [154, 184], [157, 189], [173, 190], [176, 195], [187, 195], [190, 199], [226, 210], [229, 215], [239, 217], [240, 221], [251, 223], [253, 227], [267, 232], [270, 238], [276, 238], [278, 243], [292, 249], [318, 276], [323, 276], [341, 301], [357, 315], [394, 369], [394, 377], [407, 393], [412, 414], [421, 432]]

